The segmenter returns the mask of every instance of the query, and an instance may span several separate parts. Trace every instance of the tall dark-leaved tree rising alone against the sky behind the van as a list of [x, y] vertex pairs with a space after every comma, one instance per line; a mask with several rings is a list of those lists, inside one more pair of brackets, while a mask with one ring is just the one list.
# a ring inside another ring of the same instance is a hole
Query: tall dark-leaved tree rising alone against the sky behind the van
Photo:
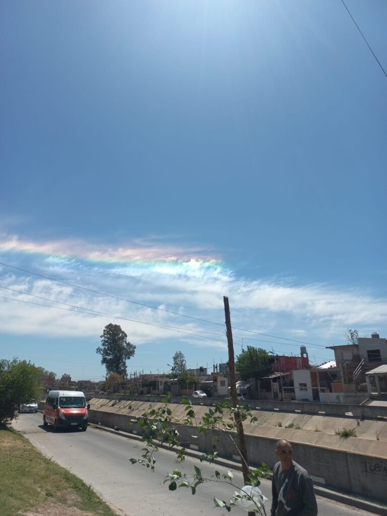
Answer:
[[126, 341], [126, 333], [117, 324], [106, 325], [100, 337], [101, 346], [96, 352], [102, 356], [101, 364], [105, 365], [106, 373], [117, 373], [125, 378], [126, 360], [133, 357], [136, 346]]

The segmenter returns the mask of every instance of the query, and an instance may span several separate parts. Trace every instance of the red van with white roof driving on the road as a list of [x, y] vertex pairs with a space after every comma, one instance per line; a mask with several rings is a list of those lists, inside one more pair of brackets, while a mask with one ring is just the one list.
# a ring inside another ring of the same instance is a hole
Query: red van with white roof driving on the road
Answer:
[[80, 391], [50, 391], [43, 409], [43, 426], [87, 430], [90, 404]]

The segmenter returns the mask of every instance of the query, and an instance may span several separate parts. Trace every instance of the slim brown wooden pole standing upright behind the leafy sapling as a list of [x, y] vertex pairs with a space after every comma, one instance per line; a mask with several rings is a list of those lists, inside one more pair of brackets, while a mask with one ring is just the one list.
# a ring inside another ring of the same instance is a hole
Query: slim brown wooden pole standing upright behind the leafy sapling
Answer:
[[[230, 378], [230, 389], [231, 389], [231, 401], [232, 406], [236, 407], [238, 405], [238, 400], [236, 396], [236, 381], [235, 381], [235, 360], [234, 360], [234, 343], [233, 343], [233, 334], [231, 330], [231, 318], [230, 318], [230, 306], [229, 306], [229, 298], [227, 296], [223, 296], [224, 302], [224, 314], [225, 314], [225, 325], [227, 330], [227, 344], [229, 347], [229, 378]], [[239, 454], [242, 461], [242, 472], [243, 479], [245, 481], [245, 486], [250, 485], [251, 481], [249, 479], [250, 469], [249, 469], [249, 461], [247, 457], [247, 448], [246, 448], [246, 440], [245, 433], [243, 430], [243, 423], [240, 418], [240, 412], [237, 410], [234, 412], [236, 430], [238, 433], [238, 447]], [[248, 516], [254, 516], [254, 512], [248, 512]]]

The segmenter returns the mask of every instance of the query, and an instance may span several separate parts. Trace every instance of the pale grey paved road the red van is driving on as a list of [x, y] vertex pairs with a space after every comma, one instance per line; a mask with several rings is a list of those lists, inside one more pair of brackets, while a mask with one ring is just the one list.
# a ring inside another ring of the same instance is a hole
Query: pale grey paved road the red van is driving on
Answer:
[[[98, 492], [105, 501], [125, 516], [198, 516], [214, 514], [223, 516], [227, 511], [215, 508], [213, 498], [230, 499], [235, 489], [227, 484], [209, 482], [200, 486], [192, 496], [190, 490], [180, 488], [174, 492], [163, 484], [166, 473], [175, 469], [189, 473], [198, 465], [207, 477], [215, 470], [225, 472], [219, 465], [204, 465], [200, 461], [187, 457], [183, 464], [175, 462], [175, 455], [167, 450], [157, 453], [156, 471], [152, 473], [146, 467], [132, 465], [130, 458], [141, 456], [142, 443], [89, 427], [87, 432], [80, 430], [61, 430], [53, 432], [52, 427], [43, 427], [42, 414], [21, 414], [13, 422], [13, 427], [24, 434], [31, 443], [82, 478]], [[297, 460], [297, 457], [295, 458]], [[301, 464], [302, 461], [300, 460]], [[233, 471], [235, 483], [243, 486], [241, 473]], [[271, 482], [263, 480], [263, 494], [268, 498], [266, 512], [270, 514]], [[349, 507], [326, 498], [317, 497], [319, 516], [353, 516], [371, 513]], [[234, 516], [247, 516], [247, 512], [233, 508]]]

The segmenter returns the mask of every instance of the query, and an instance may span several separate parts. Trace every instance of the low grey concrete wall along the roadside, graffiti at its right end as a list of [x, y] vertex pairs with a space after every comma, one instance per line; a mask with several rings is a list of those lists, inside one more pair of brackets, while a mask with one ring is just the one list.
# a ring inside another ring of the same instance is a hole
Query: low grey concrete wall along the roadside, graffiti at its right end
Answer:
[[[120, 414], [112, 409], [112, 407], [91, 409], [89, 421], [142, 434], [143, 429], [137, 423], [132, 423], [133, 415]], [[220, 457], [236, 459], [236, 447], [230, 436], [224, 432], [211, 431], [193, 438], [192, 435], [196, 433], [195, 428], [182, 426], [179, 428], [179, 433], [180, 440], [186, 447], [193, 447], [204, 453], [212, 450], [215, 444]], [[277, 461], [274, 450], [278, 439], [278, 436], [263, 437], [246, 434], [250, 464], [259, 467], [262, 462], [265, 462], [272, 468]], [[305, 467], [317, 483], [387, 501], [387, 459], [325, 446], [297, 443], [294, 440], [292, 440], [292, 446], [295, 461]]]

